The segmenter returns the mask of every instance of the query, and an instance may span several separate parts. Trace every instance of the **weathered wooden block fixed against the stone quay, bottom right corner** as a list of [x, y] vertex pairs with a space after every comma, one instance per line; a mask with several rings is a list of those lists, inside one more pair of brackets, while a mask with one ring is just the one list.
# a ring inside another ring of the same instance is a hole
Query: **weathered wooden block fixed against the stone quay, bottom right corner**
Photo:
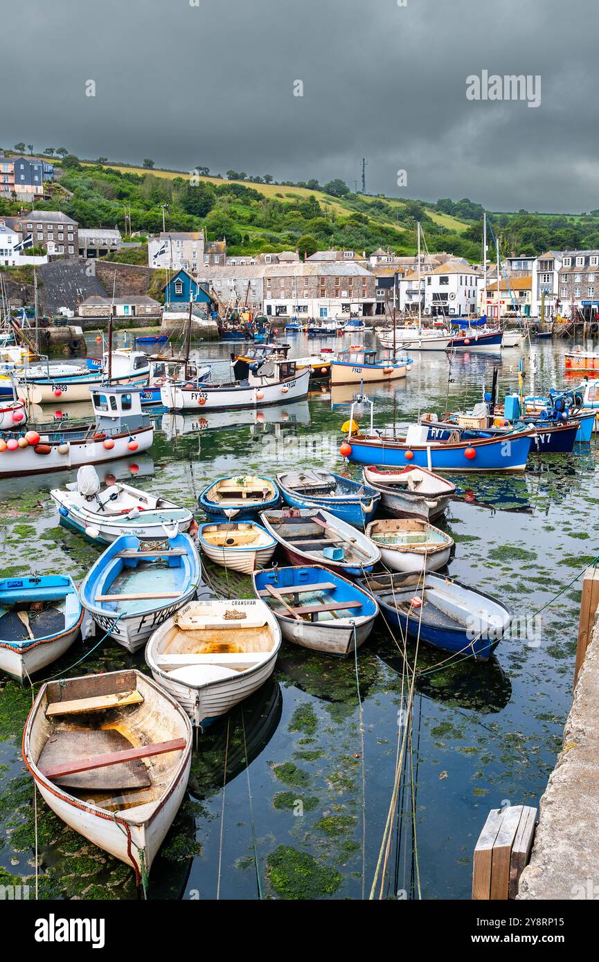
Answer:
[[489, 812], [474, 849], [472, 898], [515, 899], [533, 848], [536, 809], [510, 805]]

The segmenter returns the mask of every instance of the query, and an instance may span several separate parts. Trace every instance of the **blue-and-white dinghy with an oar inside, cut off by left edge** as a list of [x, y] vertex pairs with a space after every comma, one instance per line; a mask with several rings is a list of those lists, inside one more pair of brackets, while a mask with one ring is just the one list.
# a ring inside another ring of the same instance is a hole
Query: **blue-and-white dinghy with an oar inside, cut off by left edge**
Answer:
[[0, 669], [25, 681], [65, 654], [83, 620], [68, 575], [0, 581]]

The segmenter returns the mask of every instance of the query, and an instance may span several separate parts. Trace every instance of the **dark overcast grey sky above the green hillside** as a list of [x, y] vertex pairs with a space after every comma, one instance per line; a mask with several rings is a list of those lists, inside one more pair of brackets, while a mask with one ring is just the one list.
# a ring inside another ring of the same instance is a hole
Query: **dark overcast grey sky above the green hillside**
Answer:
[[[195, 2], [5, 5], [0, 144], [352, 189], [365, 156], [371, 193], [599, 208], [597, 0]], [[483, 69], [540, 74], [540, 106], [467, 100]]]

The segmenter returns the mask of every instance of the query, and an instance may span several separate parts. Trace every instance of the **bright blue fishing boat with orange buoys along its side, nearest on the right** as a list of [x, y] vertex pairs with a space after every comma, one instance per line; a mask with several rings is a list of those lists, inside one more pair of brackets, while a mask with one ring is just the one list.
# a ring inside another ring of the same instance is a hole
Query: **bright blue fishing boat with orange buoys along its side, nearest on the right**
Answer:
[[490, 436], [455, 441], [430, 438], [424, 424], [411, 424], [405, 435], [393, 429], [367, 435], [351, 430], [341, 445], [343, 457], [359, 465], [416, 465], [430, 471], [523, 471], [533, 443], [534, 428], [508, 437]]

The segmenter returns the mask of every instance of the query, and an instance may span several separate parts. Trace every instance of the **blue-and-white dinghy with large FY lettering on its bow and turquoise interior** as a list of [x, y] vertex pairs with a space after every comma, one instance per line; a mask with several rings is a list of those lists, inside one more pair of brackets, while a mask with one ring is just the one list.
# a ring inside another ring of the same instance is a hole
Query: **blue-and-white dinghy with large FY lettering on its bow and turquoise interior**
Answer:
[[160, 542], [121, 535], [88, 571], [81, 600], [101, 631], [137, 651], [157, 625], [195, 597], [200, 573], [189, 535]]

